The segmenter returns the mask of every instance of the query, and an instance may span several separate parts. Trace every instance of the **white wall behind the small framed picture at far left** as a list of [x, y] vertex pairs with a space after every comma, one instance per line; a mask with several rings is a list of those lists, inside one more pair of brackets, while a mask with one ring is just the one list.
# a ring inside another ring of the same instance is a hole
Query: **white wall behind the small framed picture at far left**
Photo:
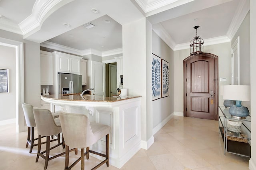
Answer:
[[9, 92], [0, 93], [0, 121], [16, 118], [15, 48], [0, 45], [0, 68], [9, 69]]

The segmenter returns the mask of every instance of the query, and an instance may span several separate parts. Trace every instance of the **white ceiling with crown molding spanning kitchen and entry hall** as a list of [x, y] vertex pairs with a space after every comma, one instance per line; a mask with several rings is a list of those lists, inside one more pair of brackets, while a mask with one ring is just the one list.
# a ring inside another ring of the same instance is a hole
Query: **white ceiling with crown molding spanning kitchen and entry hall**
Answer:
[[104, 52], [122, 48], [123, 24], [146, 17], [176, 50], [188, 47], [196, 25], [205, 43], [230, 41], [248, 11], [249, 0], [0, 0], [0, 29], [45, 47]]

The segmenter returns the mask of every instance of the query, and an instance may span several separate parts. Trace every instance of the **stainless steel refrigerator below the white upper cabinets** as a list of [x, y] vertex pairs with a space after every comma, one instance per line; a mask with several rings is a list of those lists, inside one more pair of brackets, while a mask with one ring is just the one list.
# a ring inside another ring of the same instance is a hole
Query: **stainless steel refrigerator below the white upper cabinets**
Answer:
[[82, 75], [58, 74], [58, 94], [70, 94], [82, 92]]

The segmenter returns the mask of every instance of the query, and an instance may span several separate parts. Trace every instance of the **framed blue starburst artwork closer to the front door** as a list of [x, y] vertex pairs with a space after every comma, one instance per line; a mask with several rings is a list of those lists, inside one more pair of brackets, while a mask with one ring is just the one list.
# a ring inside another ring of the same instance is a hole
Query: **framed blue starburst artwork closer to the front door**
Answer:
[[161, 73], [161, 79], [162, 79], [162, 90], [161, 90], [161, 98], [169, 96], [169, 70], [170, 66], [167, 61], [164, 59], [161, 60], [162, 65], [162, 73]]

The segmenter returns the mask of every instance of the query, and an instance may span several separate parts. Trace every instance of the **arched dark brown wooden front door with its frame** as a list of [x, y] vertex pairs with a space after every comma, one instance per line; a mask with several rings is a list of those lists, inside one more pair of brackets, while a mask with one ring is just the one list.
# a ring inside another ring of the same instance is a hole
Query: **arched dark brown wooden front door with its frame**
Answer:
[[184, 116], [218, 120], [218, 56], [189, 56], [184, 61]]

